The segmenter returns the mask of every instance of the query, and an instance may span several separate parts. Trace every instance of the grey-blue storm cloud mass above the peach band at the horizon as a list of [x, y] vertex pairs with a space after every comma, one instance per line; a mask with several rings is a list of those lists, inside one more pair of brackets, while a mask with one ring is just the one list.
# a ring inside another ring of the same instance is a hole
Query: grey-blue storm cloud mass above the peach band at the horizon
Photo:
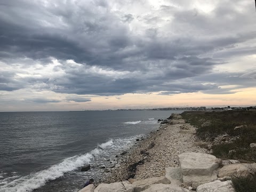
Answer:
[[[206, 14], [196, 7], [162, 5], [154, 13], [136, 15], [129, 10], [111, 11], [110, 2], [103, 0], [5, 1], [0, 4], [0, 61], [26, 68], [35, 62], [47, 66], [54, 58], [60, 65], [53, 71], [63, 73], [52, 78], [47, 74], [17, 78], [15, 72], [8, 74], [0, 69], [0, 90], [30, 87], [107, 96], [211, 90], [222, 94], [229, 90], [220, 89], [221, 85], [253, 86], [255, 73], [247, 71], [234, 77], [233, 73], [212, 72], [215, 65], [226, 63], [234, 55], [254, 53], [255, 44], [247, 45], [256, 41], [253, 17], [234, 6], [231, 1], [220, 2]], [[250, 4], [239, 6], [250, 10]], [[168, 15], [172, 18], [165, 20]], [[133, 22], [145, 27], [137, 24], [131, 30]], [[66, 60], [79, 65], [72, 67]], [[97, 71], [93, 67], [98, 67]], [[101, 69], [114, 72], [101, 73]], [[67, 101], [91, 100], [77, 97]]]

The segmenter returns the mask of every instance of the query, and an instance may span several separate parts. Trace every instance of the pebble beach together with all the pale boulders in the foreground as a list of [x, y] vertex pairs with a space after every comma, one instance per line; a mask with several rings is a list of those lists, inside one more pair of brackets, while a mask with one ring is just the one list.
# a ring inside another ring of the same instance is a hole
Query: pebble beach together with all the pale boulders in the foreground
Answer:
[[210, 155], [210, 143], [198, 141], [196, 128], [180, 115], [172, 114], [163, 122], [137, 146], [113, 159], [117, 164], [107, 169], [108, 178], [79, 192], [235, 192], [234, 177], [256, 173], [256, 163]]

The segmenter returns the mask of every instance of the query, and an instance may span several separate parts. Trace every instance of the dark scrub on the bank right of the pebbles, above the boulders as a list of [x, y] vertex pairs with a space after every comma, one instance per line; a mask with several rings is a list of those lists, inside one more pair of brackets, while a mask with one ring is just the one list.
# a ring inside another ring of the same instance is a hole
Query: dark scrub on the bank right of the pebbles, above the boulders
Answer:
[[181, 116], [197, 127], [196, 136], [201, 140], [213, 141], [223, 134], [233, 139], [212, 146], [216, 157], [256, 162], [256, 150], [250, 148], [250, 143], [256, 141], [256, 111], [185, 111]]

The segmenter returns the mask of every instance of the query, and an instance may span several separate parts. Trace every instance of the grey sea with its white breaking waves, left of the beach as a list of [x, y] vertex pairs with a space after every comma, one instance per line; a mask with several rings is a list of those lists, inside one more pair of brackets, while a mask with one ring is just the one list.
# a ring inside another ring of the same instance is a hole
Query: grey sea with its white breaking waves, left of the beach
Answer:
[[78, 191], [172, 113], [182, 111], [0, 113], [0, 191]]

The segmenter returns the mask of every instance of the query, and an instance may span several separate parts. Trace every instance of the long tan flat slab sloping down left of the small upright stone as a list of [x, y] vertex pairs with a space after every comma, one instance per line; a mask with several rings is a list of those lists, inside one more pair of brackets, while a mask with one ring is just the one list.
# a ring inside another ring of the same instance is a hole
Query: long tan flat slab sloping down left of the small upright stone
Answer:
[[170, 184], [171, 181], [165, 177], [154, 177], [154, 178], [134, 181], [132, 183], [132, 186], [134, 187], [134, 192], [140, 192], [140, 191], [146, 190], [151, 185], [158, 184], [158, 183]]

